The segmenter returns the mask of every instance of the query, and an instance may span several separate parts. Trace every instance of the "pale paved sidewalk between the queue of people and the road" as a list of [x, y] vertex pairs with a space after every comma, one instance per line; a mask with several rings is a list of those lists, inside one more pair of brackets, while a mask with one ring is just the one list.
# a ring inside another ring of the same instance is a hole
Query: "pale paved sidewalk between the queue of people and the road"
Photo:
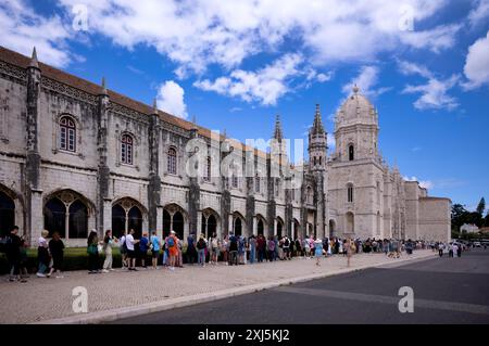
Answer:
[[[65, 272], [63, 279], [32, 275], [27, 283], [9, 283], [2, 277], [0, 323], [97, 323], [435, 256], [431, 251], [403, 254], [400, 259], [384, 254], [360, 254], [352, 257], [350, 268], [347, 258], [337, 255], [322, 259], [321, 267], [314, 265], [315, 260], [294, 258], [238, 267], [195, 265], [173, 272], [165, 268], [105, 274], [72, 271]], [[73, 312], [72, 290], [76, 286], [88, 291], [88, 313]]]

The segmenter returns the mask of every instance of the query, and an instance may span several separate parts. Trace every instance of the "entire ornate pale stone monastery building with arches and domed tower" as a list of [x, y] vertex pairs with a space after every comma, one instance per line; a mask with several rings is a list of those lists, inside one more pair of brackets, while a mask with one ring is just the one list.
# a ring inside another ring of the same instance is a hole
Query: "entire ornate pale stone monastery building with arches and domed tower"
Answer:
[[449, 236], [450, 202], [383, 163], [377, 114], [358, 90], [337, 116], [331, 157], [316, 107], [300, 167], [288, 162], [278, 117], [264, 153], [39, 63], [36, 52], [0, 48], [0, 228], [18, 225], [32, 244], [45, 228], [72, 246], [92, 228]]

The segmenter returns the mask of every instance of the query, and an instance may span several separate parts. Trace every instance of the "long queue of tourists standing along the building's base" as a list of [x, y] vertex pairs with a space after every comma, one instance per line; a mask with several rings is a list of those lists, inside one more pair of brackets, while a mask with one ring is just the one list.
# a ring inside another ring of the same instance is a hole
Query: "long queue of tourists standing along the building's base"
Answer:
[[[23, 236], [18, 236], [18, 228], [14, 227], [8, 235], [8, 241], [2, 240], [0, 244], [7, 254], [10, 281], [25, 282], [27, 278], [27, 245]], [[42, 231], [37, 240], [38, 268], [36, 275], [39, 278], [63, 278], [64, 243], [58, 232], [51, 235]], [[227, 266], [253, 265], [255, 262], [291, 260], [292, 257], [302, 259], [315, 258], [315, 265], [319, 266], [319, 259], [333, 255], [350, 257], [353, 254], [384, 253], [386, 256], [399, 258], [401, 252], [408, 255], [414, 249], [435, 248], [434, 243], [424, 241], [398, 241], [367, 239], [318, 239], [310, 235], [290, 239], [288, 235], [265, 236], [263, 234], [243, 235], [235, 234], [221, 238], [216, 233], [206, 238], [204, 234], [190, 233], [186, 240], [179, 239], [175, 231], [166, 236], [160, 238], [155, 231], [149, 234], [142, 232], [141, 236], [135, 236], [130, 229], [126, 234], [116, 238], [111, 230], [106, 230], [103, 238], [99, 238], [97, 230], [91, 230], [87, 239], [88, 273], [108, 273], [113, 268], [113, 249], [118, 248], [121, 253], [121, 267], [123, 270], [137, 271], [137, 265], [142, 269], [160, 269], [164, 266], [171, 271], [181, 268], [184, 260], [188, 265], [217, 265]], [[450, 245], [449, 254], [460, 257], [462, 247]], [[440, 254], [446, 248], [441, 243], [436, 243]], [[435, 251], [435, 249], [434, 249]], [[101, 261], [103, 258], [103, 262]], [[148, 260], [149, 259], [149, 260]], [[101, 265], [102, 262], [102, 265]], [[118, 266], [117, 266], [118, 267]]]

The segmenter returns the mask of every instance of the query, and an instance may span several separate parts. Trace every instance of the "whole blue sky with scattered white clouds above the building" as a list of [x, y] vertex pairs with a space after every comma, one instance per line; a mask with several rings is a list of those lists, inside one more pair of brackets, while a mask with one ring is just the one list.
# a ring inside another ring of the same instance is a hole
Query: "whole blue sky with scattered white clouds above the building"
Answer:
[[[239, 140], [328, 133], [353, 82], [431, 195], [489, 198], [489, 0], [7, 0], [0, 44]], [[334, 140], [329, 141], [334, 150]]]

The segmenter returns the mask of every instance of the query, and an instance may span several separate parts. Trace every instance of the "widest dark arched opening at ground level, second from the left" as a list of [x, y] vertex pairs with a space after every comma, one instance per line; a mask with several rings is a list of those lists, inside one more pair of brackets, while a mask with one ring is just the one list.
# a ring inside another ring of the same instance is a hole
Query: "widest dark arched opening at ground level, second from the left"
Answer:
[[43, 207], [45, 229], [52, 235], [65, 239], [88, 236], [88, 218], [91, 205], [88, 200], [72, 190], [58, 191], [47, 197]]

